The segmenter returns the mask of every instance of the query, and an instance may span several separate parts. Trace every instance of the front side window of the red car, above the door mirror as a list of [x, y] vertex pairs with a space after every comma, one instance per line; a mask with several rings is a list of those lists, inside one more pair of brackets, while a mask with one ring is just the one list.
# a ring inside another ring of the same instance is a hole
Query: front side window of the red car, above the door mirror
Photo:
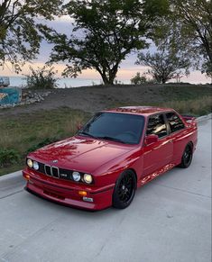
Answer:
[[149, 118], [146, 135], [155, 134], [159, 138], [167, 135], [167, 128], [162, 114], [153, 115]]

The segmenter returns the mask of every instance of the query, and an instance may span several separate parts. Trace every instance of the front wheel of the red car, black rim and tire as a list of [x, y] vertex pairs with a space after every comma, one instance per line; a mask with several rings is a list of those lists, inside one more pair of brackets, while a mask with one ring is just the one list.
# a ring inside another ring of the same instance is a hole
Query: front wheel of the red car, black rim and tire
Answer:
[[131, 170], [124, 171], [115, 183], [113, 206], [124, 209], [132, 203], [136, 189], [136, 178]]

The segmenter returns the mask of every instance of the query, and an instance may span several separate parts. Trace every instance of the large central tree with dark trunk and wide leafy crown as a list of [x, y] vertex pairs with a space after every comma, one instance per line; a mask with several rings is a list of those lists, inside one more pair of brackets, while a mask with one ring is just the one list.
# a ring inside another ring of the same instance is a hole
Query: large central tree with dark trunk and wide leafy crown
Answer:
[[[65, 76], [94, 68], [105, 84], [114, 84], [120, 63], [132, 51], [148, 46], [152, 21], [165, 14], [166, 0], [72, 0], [65, 6], [74, 32], [46, 34], [55, 44], [51, 62], [67, 61]], [[152, 12], [153, 10], [153, 12]]]

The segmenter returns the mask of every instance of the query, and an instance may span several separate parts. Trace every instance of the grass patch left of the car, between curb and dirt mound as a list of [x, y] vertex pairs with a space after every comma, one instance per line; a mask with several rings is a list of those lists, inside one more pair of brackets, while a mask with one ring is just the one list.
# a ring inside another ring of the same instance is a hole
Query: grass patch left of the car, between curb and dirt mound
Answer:
[[77, 131], [78, 123], [86, 122], [88, 117], [88, 113], [69, 108], [14, 115], [9, 119], [1, 117], [0, 149], [14, 149], [20, 160], [11, 165], [2, 165], [0, 176], [23, 168], [29, 151], [72, 136]]

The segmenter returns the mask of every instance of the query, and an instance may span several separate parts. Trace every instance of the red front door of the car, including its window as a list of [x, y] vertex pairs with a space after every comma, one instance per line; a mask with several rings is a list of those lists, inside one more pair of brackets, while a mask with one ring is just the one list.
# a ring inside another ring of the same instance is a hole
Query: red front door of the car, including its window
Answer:
[[173, 158], [173, 143], [163, 113], [149, 117], [145, 135], [150, 134], [157, 135], [159, 140], [150, 145], [143, 145], [143, 176], [170, 164]]

